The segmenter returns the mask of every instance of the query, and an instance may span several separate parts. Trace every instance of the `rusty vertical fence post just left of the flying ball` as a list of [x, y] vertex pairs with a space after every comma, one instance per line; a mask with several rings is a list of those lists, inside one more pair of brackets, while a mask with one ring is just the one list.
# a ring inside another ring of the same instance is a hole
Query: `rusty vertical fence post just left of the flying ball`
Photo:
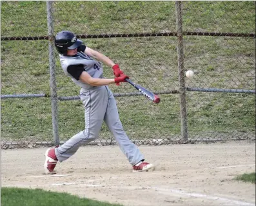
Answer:
[[179, 94], [181, 108], [181, 135], [184, 141], [188, 140], [188, 126], [186, 116], [186, 89], [184, 73], [184, 53], [182, 37], [182, 8], [181, 1], [175, 1], [176, 27], [177, 27], [177, 57], [179, 71]]

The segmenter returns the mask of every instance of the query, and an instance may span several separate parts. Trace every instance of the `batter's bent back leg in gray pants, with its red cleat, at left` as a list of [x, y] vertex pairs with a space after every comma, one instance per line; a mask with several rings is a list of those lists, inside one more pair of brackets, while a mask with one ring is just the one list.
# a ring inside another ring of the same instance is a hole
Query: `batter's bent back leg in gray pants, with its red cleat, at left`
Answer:
[[54, 167], [59, 162], [70, 158], [80, 146], [94, 141], [99, 135], [104, 114], [108, 105], [108, 92], [104, 87], [95, 90], [81, 90], [81, 101], [84, 105], [85, 129], [57, 148], [46, 151], [44, 163], [45, 173], [54, 173]]

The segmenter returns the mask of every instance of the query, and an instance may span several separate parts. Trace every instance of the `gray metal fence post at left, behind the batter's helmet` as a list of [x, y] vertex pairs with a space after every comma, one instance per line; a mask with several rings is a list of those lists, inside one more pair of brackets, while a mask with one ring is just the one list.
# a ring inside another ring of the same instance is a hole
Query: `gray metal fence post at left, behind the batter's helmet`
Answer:
[[59, 144], [59, 127], [57, 118], [57, 85], [55, 77], [55, 58], [54, 58], [54, 17], [53, 17], [53, 2], [46, 1], [47, 9], [47, 27], [49, 37], [49, 66], [50, 66], [50, 90], [52, 102], [52, 129], [54, 134], [55, 145]]

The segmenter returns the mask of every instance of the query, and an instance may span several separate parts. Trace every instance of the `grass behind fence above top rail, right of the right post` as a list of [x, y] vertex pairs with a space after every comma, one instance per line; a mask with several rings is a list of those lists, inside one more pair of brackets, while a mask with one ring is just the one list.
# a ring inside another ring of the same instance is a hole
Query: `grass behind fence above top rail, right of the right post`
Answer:
[[186, 1], [183, 10], [184, 31], [255, 33], [254, 1]]

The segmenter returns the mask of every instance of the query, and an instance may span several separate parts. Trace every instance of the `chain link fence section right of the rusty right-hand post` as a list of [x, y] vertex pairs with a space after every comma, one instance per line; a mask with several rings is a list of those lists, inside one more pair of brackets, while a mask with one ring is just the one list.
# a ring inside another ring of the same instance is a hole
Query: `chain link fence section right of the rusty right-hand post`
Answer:
[[255, 2], [184, 2], [183, 11], [184, 31], [197, 34], [184, 37], [184, 65], [196, 76], [186, 79], [190, 137], [255, 138], [255, 94], [246, 93], [255, 90]]

